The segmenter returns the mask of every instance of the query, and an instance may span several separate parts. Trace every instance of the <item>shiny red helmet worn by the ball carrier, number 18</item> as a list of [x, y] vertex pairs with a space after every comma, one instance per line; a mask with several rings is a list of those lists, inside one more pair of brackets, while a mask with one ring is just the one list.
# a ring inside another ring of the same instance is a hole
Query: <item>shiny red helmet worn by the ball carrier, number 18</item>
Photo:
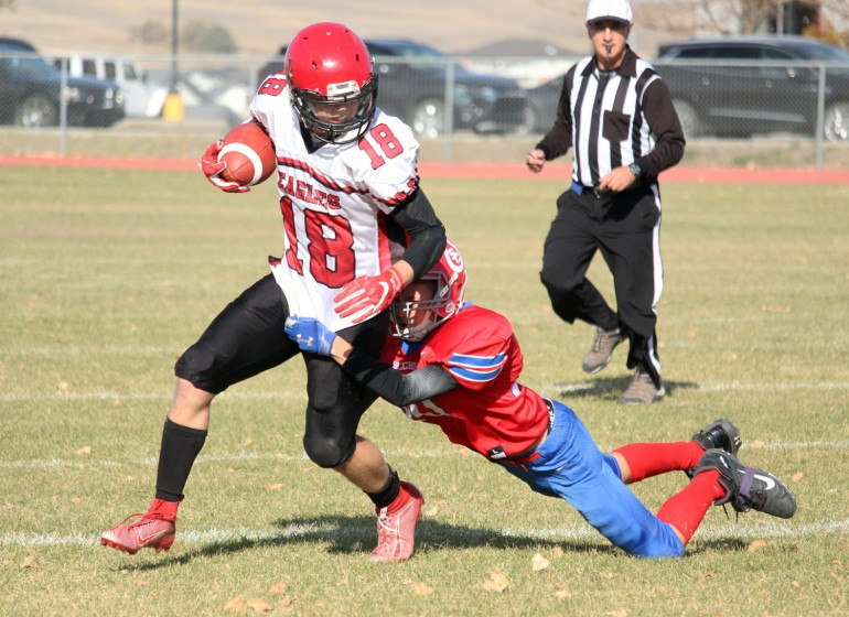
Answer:
[[[315, 23], [294, 35], [286, 52], [289, 93], [301, 122], [322, 141], [358, 140], [375, 115], [377, 75], [365, 43], [341, 23]], [[336, 121], [322, 120], [316, 104], [356, 101]]]

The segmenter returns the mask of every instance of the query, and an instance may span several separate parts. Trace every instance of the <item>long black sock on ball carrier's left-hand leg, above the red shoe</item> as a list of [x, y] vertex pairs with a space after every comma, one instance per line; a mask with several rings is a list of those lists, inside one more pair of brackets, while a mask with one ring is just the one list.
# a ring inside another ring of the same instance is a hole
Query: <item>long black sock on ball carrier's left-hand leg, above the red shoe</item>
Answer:
[[206, 431], [190, 429], [165, 418], [157, 469], [157, 498], [180, 501], [194, 459], [206, 441]]

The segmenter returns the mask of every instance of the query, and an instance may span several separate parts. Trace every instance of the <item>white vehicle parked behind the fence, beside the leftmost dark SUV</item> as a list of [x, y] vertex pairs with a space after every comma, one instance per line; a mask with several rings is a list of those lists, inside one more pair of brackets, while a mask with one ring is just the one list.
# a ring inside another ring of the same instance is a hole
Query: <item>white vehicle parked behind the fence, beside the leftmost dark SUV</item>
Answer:
[[159, 118], [168, 98], [168, 87], [149, 83], [148, 76], [130, 57], [79, 55], [47, 58], [58, 69], [63, 63], [73, 77], [94, 77], [115, 82], [121, 87], [127, 116], [133, 118]]

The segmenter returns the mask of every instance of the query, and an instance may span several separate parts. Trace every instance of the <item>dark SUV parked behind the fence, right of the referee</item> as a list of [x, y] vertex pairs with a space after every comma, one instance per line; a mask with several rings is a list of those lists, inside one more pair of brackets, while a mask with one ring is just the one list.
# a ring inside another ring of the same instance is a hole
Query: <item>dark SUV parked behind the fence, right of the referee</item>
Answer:
[[825, 72], [823, 136], [849, 141], [849, 54], [806, 36], [691, 39], [653, 62], [687, 137], [814, 134]]

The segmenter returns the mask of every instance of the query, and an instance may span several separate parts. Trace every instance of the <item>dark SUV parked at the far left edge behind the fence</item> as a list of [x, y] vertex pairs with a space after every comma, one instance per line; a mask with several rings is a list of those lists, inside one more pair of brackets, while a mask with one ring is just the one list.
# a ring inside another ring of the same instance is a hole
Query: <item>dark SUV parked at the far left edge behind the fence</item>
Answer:
[[[0, 123], [57, 126], [62, 73], [19, 39], [0, 39]], [[123, 118], [123, 93], [114, 82], [68, 77], [64, 84], [67, 123], [109, 127]]]

